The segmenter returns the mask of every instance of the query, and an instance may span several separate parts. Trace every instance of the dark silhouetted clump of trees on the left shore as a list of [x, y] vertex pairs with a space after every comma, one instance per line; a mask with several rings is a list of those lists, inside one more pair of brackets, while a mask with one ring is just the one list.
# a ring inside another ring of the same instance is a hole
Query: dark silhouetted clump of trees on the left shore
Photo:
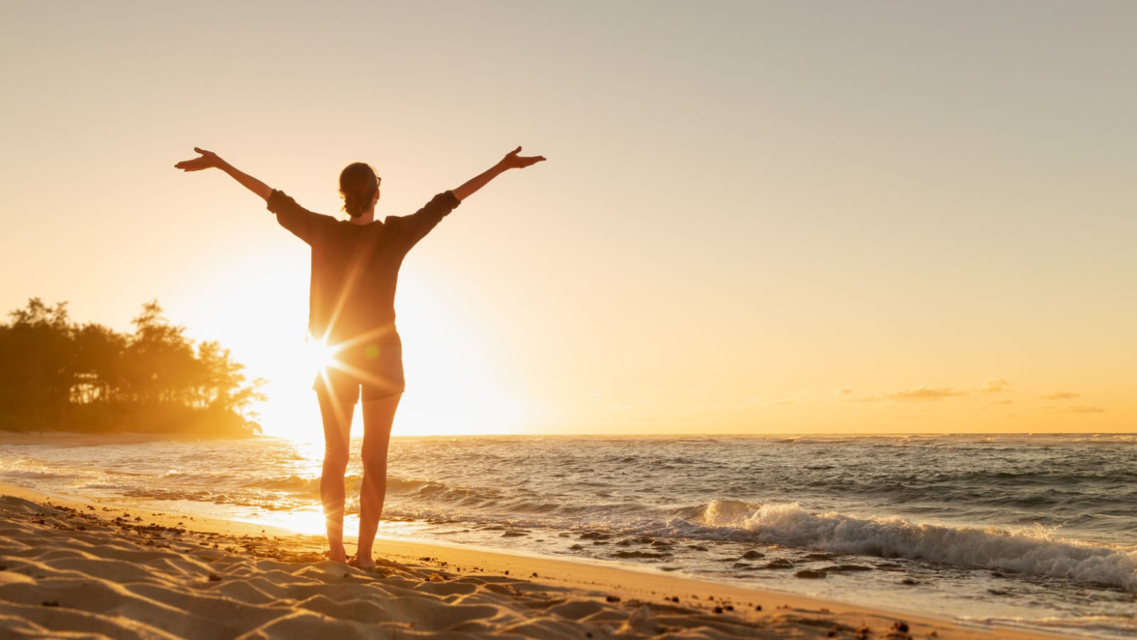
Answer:
[[260, 433], [249, 405], [263, 380], [216, 342], [196, 344], [157, 301], [133, 334], [77, 325], [67, 303], [40, 298], [0, 325], [0, 429], [146, 432], [234, 437]]

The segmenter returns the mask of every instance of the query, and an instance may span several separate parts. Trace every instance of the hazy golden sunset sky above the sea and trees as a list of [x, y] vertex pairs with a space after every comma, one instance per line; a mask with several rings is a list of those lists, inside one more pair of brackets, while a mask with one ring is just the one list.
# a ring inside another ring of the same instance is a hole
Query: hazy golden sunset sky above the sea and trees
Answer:
[[[396, 434], [1134, 432], [1137, 3], [0, 5], [0, 306], [158, 300], [318, 437], [308, 247], [409, 254]], [[358, 421], [357, 421], [358, 422]]]

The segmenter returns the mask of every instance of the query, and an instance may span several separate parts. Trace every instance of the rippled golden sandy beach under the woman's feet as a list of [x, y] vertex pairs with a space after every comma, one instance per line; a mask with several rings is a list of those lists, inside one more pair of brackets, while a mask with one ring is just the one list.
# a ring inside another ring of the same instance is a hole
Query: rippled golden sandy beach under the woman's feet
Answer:
[[42, 638], [1039, 638], [654, 572], [322, 540], [0, 485], [0, 618]]

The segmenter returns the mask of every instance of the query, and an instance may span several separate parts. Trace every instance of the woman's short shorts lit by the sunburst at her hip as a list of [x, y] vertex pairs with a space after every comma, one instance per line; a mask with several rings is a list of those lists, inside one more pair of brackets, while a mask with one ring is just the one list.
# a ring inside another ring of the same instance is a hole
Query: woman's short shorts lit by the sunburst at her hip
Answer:
[[[396, 336], [398, 340], [398, 336]], [[382, 345], [354, 347], [337, 354], [339, 367], [329, 367], [316, 375], [312, 388], [318, 395], [333, 395], [341, 404], [382, 400], [402, 393], [402, 345], [385, 340]]]

